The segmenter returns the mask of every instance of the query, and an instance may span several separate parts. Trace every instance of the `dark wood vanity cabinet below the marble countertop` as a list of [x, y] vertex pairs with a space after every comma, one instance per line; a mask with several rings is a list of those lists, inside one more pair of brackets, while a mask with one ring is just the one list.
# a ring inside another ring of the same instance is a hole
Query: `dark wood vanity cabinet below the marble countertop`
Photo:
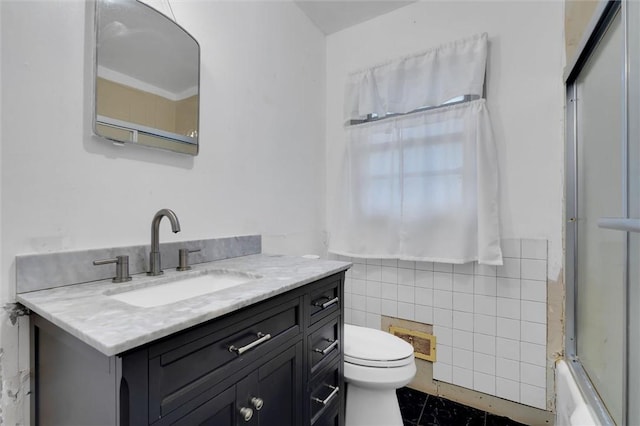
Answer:
[[343, 283], [335, 274], [112, 357], [34, 315], [32, 424], [342, 425]]

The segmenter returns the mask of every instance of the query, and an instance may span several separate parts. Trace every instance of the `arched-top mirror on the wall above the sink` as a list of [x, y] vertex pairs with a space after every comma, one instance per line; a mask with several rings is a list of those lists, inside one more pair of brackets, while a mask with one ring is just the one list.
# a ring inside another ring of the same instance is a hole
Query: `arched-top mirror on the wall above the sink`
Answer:
[[97, 0], [94, 132], [198, 154], [200, 46], [138, 0]]

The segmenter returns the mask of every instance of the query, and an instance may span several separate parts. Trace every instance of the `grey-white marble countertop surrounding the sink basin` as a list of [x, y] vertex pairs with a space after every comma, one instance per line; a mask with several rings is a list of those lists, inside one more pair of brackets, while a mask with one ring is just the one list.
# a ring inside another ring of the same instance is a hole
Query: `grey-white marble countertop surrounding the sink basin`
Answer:
[[109, 297], [126, 288], [153, 285], [158, 277], [133, 276], [127, 283], [94, 281], [20, 293], [16, 296], [33, 312], [107, 356], [201, 324], [320, 278], [344, 271], [351, 264], [295, 256], [256, 254], [193, 265], [188, 272], [165, 270], [161, 279], [190, 277], [209, 269], [260, 276], [245, 284], [170, 303], [141, 308]]

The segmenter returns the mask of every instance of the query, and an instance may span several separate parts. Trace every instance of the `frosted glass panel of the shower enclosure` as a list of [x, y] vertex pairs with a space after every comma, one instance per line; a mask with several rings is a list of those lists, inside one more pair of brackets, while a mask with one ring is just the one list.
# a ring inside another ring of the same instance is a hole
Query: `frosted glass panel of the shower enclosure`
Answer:
[[599, 228], [625, 217], [624, 27], [621, 13], [576, 80], [576, 355], [617, 424], [624, 417], [626, 233]]

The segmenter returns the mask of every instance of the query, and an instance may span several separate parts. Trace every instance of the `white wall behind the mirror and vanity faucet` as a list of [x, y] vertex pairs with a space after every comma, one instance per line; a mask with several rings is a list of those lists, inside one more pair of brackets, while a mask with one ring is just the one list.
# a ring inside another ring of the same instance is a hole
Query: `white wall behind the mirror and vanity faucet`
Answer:
[[[322, 251], [325, 45], [306, 16], [290, 2], [172, 2], [202, 49], [192, 158], [91, 136], [92, 7], [2, 1], [0, 303], [13, 301], [15, 255], [148, 244], [163, 207], [182, 232], [163, 225], [161, 242], [255, 233], [265, 252]], [[24, 363], [7, 364], [18, 332], [2, 323], [2, 416], [15, 424]]]

